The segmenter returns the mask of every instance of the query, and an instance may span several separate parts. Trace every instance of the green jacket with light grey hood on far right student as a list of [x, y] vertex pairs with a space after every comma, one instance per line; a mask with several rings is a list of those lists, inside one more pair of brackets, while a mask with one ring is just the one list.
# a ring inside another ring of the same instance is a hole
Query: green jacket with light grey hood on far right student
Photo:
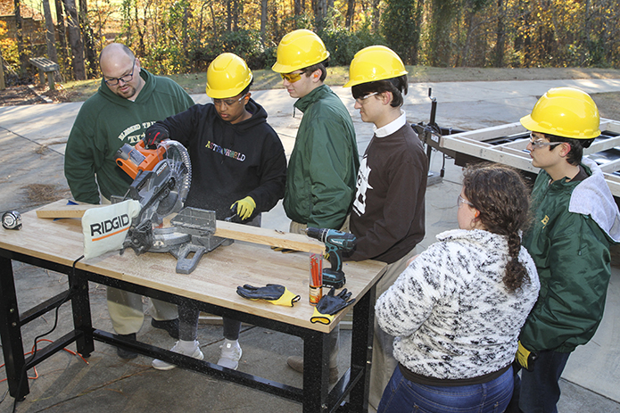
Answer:
[[603, 318], [618, 211], [599, 168], [585, 158], [582, 166], [589, 175], [583, 181], [549, 184], [541, 170], [533, 187], [533, 224], [524, 245], [541, 291], [520, 335], [530, 351], [574, 351]]

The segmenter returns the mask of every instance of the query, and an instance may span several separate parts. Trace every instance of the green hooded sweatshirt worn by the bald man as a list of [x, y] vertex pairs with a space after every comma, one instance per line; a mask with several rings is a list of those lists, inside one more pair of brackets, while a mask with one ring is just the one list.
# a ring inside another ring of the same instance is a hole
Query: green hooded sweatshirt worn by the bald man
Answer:
[[[132, 178], [114, 160], [123, 144], [136, 145], [155, 121], [183, 112], [194, 101], [169, 78], [140, 70], [145, 86], [132, 102], [112, 93], [103, 79], [97, 93], [82, 105], [71, 128], [64, 176], [76, 201], [99, 203], [124, 195]], [[97, 186], [98, 184], [98, 186]]]

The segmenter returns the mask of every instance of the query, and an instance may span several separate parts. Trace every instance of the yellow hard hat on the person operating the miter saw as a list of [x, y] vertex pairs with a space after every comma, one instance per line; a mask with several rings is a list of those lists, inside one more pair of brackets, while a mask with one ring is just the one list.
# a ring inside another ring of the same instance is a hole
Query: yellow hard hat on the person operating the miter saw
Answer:
[[250, 82], [252, 70], [236, 54], [220, 54], [207, 69], [207, 95], [215, 99], [239, 95]]

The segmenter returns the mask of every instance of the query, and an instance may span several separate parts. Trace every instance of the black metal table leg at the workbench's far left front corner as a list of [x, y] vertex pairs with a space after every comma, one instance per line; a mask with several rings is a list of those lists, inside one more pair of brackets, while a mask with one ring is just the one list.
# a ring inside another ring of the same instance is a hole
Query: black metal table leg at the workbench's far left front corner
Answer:
[[[0, 336], [4, 353], [4, 368], [9, 392], [17, 400], [28, 394], [29, 386], [24, 366], [23, 343], [21, 342], [20, 311], [17, 308], [17, 293], [10, 259], [0, 257]], [[23, 377], [22, 377], [23, 376]], [[20, 387], [21, 382], [21, 389]]]

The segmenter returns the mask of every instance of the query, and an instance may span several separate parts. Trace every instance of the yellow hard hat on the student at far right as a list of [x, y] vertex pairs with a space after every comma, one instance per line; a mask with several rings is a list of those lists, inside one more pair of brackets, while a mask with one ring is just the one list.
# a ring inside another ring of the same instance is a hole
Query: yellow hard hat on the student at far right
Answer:
[[590, 95], [575, 87], [554, 87], [534, 104], [521, 125], [533, 132], [591, 139], [600, 135], [599, 108]]

